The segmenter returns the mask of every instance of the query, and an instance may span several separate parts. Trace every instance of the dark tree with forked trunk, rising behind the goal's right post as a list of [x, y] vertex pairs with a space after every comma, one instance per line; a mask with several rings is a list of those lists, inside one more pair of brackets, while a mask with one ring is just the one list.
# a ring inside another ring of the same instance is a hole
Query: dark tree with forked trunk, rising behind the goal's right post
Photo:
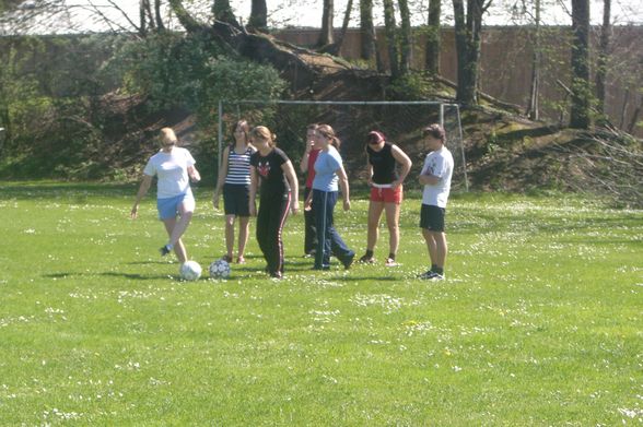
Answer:
[[465, 15], [464, 0], [453, 0], [457, 55], [456, 99], [465, 105], [478, 102], [478, 69], [480, 62], [480, 33], [482, 14], [491, 0], [468, 0]]

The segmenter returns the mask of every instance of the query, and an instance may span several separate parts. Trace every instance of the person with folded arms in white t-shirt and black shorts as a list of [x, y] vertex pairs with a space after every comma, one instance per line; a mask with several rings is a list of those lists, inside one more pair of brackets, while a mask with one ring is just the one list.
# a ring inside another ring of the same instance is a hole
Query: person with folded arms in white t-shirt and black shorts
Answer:
[[440, 124], [422, 130], [424, 143], [430, 153], [424, 159], [419, 181], [424, 186], [420, 227], [426, 241], [431, 269], [420, 275], [430, 281], [444, 280], [444, 263], [448, 251], [444, 234], [444, 216], [453, 176], [453, 155], [445, 146], [446, 134]]

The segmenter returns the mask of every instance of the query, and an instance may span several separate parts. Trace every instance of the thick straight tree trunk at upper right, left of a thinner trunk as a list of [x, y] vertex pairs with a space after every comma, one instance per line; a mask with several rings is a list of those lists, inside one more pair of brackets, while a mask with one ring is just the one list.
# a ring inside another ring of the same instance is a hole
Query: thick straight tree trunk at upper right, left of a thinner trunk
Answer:
[[570, 127], [589, 129], [589, 0], [572, 0], [572, 109]]

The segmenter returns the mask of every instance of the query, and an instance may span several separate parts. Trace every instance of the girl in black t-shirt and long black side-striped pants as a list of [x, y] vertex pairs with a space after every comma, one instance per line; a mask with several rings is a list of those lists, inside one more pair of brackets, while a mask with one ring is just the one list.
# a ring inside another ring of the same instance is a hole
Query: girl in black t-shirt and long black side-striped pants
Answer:
[[[257, 152], [250, 156], [250, 215], [257, 215], [257, 241], [267, 262], [270, 276], [283, 277], [283, 241], [281, 230], [289, 209], [297, 213], [299, 182], [292, 163], [277, 149], [274, 135], [265, 126], [250, 131]], [[259, 213], [255, 197], [261, 180]]]

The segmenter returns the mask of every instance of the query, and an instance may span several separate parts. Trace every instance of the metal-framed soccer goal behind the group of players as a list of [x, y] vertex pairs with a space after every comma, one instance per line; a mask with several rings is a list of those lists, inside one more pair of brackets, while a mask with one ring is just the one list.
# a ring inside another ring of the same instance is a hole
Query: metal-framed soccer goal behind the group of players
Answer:
[[365, 174], [365, 140], [372, 130], [386, 135], [413, 161], [413, 173], [422, 167], [428, 154], [422, 128], [441, 123], [446, 146], [454, 156], [454, 190], [468, 191], [460, 110], [442, 102], [335, 102], [335, 100], [221, 100], [219, 103], [219, 147], [232, 142], [232, 127], [241, 119], [250, 126], [262, 124], [277, 135], [277, 144], [296, 165], [304, 152], [306, 127], [330, 124], [342, 145], [340, 152], [351, 179]]

